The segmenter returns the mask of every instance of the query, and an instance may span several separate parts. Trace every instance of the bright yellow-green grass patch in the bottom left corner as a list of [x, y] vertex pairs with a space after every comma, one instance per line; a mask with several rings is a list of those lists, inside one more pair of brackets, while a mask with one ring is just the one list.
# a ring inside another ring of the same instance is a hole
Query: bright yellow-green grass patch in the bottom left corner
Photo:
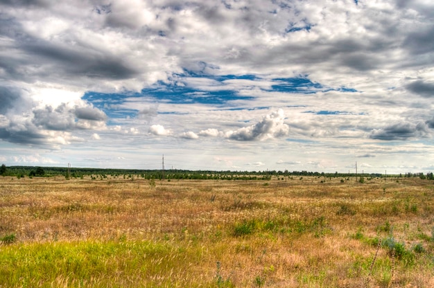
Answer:
[[185, 273], [186, 256], [168, 242], [15, 244], [1, 249], [0, 287], [181, 287], [167, 276]]

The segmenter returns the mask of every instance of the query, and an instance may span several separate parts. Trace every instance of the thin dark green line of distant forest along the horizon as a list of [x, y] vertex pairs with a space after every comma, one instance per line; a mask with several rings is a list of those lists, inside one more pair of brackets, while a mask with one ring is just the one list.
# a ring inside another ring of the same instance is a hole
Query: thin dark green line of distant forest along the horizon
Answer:
[[[92, 178], [111, 177], [144, 179], [227, 179], [227, 180], [269, 180], [271, 177], [385, 177], [385, 174], [371, 173], [324, 173], [308, 171], [211, 171], [211, 170], [139, 170], [139, 169], [101, 169], [101, 168], [64, 168], [64, 167], [37, 167], [37, 166], [8, 166], [1, 165], [0, 175], [13, 177], [55, 177], [64, 176], [68, 178]], [[387, 175], [387, 177], [419, 177], [421, 179], [434, 180], [433, 173], [424, 174], [407, 172], [405, 174]]]

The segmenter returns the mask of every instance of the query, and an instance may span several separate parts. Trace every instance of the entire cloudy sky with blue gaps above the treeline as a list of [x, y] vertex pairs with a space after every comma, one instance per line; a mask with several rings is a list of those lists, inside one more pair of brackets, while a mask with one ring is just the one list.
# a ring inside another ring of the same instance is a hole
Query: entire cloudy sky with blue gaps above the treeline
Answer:
[[0, 0], [7, 166], [433, 172], [433, 100], [431, 0]]

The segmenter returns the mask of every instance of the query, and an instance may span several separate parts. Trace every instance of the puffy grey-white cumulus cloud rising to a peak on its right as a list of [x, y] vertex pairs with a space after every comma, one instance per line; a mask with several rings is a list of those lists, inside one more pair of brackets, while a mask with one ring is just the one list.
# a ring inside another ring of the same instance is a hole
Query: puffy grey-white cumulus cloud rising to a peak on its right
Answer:
[[279, 109], [264, 116], [257, 124], [226, 133], [227, 138], [236, 141], [267, 140], [288, 135], [289, 127], [284, 123], [284, 110]]

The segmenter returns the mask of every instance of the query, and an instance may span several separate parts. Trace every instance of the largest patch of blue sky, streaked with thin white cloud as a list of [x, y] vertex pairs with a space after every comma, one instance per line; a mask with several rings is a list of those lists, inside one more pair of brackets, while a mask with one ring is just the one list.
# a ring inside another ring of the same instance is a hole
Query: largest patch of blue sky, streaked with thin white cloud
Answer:
[[[218, 67], [199, 63], [198, 71], [184, 69], [182, 73], [173, 73], [167, 81], [159, 80], [152, 86], [142, 89], [139, 93], [98, 93], [88, 91], [82, 97], [83, 100], [91, 102], [94, 107], [101, 109], [110, 118], [134, 118], [139, 112], [138, 109], [125, 109], [123, 104], [131, 101], [134, 98], [144, 98], [146, 102], [166, 102], [170, 104], [201, 104], [210, 105], [223, 110], [254, 110], [254, 109], [269, 109], [270, 107], [227, 107], [228, 103], [236, 100], [254, 100], [254, 96], [240, 95], [237, 89], [233, 86], [228, 86], [225, 81], [228, 80], [249, 80], [247, 81], [247, 89], [249, 86], [254, 87], [254, 81], [272, 81], [271, 89], [265, 91], [278, 91], [283, 93], [302, 93], [311, 94], [318, 91], [324, 91], [324, 87], [320, 83], [312, 82], [307, 75], [300, 75], [294, 78], [259, 78], [256, 75], [211, 75], [206, 73], [206, 69], [218, 69]], [[229, 88], [230, 87], [230, 88]], [[240, 89], [246, 87], [241, 84]], [[338, 91], [356, 91], [341, 87]], [[290, 106], [289, 106], [290, 107]], [[160, 112], [173, 113], [173, 112]], [[316, 114], [345, 114], [340, 111], [307, 111], [306, 113]]]

